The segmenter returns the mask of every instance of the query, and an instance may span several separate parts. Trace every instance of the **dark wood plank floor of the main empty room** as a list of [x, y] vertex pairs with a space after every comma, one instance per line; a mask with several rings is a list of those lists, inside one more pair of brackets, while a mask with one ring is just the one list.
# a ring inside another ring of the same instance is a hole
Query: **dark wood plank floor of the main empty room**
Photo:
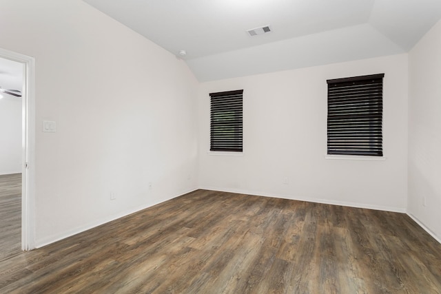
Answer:
[[403, 213], [198, 190], [0, 262], [0, 293], [441, 293]]

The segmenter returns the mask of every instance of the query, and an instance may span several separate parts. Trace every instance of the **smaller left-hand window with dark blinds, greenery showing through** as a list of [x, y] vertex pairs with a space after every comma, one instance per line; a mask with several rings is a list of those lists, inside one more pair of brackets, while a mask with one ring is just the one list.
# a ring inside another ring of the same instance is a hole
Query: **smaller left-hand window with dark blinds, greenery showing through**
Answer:
[[210, 151], [241, 152], [243, 90], [210, 93]]

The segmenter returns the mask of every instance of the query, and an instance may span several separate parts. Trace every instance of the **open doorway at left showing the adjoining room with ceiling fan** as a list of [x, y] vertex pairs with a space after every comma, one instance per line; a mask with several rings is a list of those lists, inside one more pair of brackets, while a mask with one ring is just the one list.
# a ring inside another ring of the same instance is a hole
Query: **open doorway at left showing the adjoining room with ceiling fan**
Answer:
[[0, 260], [21, 252], [23, 65], [0, 58]]

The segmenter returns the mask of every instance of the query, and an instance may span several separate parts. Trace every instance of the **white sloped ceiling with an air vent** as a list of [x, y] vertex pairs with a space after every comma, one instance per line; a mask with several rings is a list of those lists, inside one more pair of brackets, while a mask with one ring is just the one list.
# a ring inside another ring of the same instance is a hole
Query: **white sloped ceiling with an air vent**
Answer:
[[[408, 52], [441, 0], [84, 0], [212, 81]], [[246, 30], [271, 25], [273, 32]]]

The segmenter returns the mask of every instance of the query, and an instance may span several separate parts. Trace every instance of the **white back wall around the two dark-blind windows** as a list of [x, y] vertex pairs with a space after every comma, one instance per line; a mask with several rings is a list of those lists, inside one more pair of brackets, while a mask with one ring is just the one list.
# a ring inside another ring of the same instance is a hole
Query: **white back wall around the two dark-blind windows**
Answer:
[[[407, 205], [407, 54], [202, 83], [199, 186], [391, 211]], [[327, 160], [327, 83], [384, 73], [384, 161]], [[209, 93], [243, 89], [243, 156], [209, 150]], [[283, 184], [283, 178], [289, 183]]]

